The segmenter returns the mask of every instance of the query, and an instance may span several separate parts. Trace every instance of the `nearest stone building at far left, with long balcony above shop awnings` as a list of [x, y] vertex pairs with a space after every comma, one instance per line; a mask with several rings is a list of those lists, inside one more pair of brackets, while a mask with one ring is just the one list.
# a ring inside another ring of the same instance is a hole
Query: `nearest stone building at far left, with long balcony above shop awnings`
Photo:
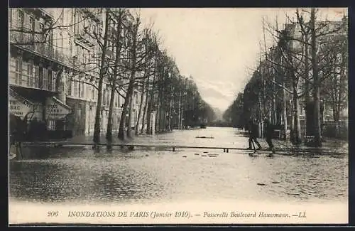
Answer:
[[70, 64], [53, 46], [54, 31], [47, 28], [54, 20], [43, 9], [9, 9], [9, 112], [62, 131], [71, 108], [62, 97], [61, 74]]

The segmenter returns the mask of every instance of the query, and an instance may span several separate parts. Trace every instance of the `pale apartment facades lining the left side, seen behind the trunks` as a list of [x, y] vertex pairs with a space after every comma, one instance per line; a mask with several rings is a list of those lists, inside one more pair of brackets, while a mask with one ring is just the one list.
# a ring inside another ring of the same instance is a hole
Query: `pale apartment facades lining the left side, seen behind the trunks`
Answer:
[[[28, 123], [45, 122], [48, 130], [70, 130], [74, 136], [93, 134], [102, 54], [98, 40], [104, 34], [102, 9], [9, 11], [9, 111]], [[109, 42], [108, 58], [115, 55], [114, 50]], [[129, 51], [123, 50], [121, 55], [129, 56]], [[107, 75], [102, 94], [102, 132], [107, 129], [110, 93]], [[138, 98], [135, 90], [133, 110], [138, 107]], [[118, 129], [123, 103], [124, 98], [116, 94], [114, 130]]]

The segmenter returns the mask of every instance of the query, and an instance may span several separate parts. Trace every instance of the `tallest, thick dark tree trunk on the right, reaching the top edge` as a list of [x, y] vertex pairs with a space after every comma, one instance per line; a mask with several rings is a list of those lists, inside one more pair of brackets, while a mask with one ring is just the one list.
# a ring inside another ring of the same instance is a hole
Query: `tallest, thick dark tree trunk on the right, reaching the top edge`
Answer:
[[318, 76], [317, 66], [317, 48], [316, 48], [316, 31], [315, 31], [315, 9], [311, 9], [310, 16], [310, 28], [311, 28], [311, 49], [312, 49], [312, 74], [314, 80], [314, 94], [313, 99], [315, 101], [315, 146], [322, 146], [322, 131], [321, 131], [321, 115], [320, 115], [320, 80]]

